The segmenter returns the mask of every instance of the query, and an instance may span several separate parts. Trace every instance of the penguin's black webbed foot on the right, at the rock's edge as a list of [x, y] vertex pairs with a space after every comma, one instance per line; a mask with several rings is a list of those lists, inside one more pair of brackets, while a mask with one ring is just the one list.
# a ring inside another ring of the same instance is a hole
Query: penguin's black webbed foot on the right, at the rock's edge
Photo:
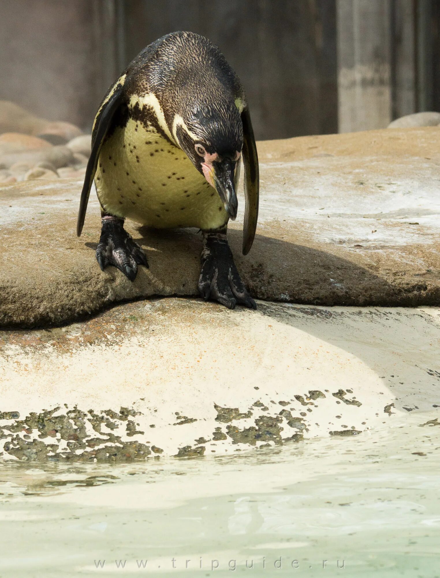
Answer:
[[226, 234], [203, 234], [201, 261], [199, 293], [205, 301], [218, 301], [228, 309], [234, 309], [237, 303], [256, 309], [255, 301], [238, 275]]

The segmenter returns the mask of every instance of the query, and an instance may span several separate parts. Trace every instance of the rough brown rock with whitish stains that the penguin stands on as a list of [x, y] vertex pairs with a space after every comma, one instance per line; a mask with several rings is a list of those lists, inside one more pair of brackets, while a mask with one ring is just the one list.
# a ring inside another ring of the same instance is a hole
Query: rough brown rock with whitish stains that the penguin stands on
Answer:
[[[325, 305], [440, 303], [440, 131], [368, 131], [259, 143], [255, 243], [241, 255], [240, 213], [229, 238], [252, 295]], [[58, 147], [52, 147], [57, 149]], [[52, 149], [50, 149], [52, 150]], [[82, 181], [27, 181], [0, 189], [0, 324], [62, 324], [111, 303], [196, 295], [201, 239], [127, 223], [146, 251], [131, 283], [95, 260], [95, 194], [75, 235]]]

